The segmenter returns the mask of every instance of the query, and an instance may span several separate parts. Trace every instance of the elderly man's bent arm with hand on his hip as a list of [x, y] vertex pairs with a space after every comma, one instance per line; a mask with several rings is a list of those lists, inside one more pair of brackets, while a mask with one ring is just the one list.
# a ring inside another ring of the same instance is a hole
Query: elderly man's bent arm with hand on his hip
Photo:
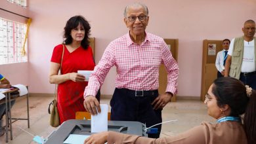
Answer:
[[158, 98], [154, 99], [152, 105], [153, 109], [161, 109], [171, 101], [173, 94], [177, 93], [177, 79], [179, 75], [179, 67], [171, 51], [169, 50], [166, 43], [162, 43], [163, 49], [161, 52], [161, 62], [165, 65], [167, 71], [167, 86], [164, 94], [160, 94]]

